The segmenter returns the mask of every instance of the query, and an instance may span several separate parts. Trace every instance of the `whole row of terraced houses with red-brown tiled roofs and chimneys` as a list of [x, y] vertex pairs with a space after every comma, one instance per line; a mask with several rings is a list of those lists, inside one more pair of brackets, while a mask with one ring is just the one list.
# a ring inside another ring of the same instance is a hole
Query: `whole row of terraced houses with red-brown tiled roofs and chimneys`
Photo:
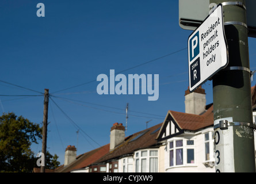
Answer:
[[[256, 93], [252, 87], [255, 109]], [[162, 123], [125, 136], [123, 124], [110, 127], [110, 142], [77, 156], [68, 145], [57, 173], [166, 173], [215, 172], [213, 104], [205, 90], [185, 91], [185, 113], [167, 111]], [[256, 113], [253, 113], [256, 116]], [[34, 168], [34, 172], [39, 168]]]

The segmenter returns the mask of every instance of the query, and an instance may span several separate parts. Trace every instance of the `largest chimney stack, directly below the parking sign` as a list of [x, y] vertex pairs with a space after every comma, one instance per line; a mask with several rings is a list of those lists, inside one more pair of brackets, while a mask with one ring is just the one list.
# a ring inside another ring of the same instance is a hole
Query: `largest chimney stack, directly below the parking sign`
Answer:
[[193, 93], [189, 89], [185, 91], [185, 113], [199, 115], [205, 112], [205, 90], [198, 87]]

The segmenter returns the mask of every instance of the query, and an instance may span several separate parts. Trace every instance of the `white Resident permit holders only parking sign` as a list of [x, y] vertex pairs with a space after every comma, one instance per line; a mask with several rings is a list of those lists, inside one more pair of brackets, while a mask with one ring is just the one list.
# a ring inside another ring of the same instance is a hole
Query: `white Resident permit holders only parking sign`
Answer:
[[188, 39], [189, 90], [192, 92], [228, 64], [223, 8], [216, 9]]

